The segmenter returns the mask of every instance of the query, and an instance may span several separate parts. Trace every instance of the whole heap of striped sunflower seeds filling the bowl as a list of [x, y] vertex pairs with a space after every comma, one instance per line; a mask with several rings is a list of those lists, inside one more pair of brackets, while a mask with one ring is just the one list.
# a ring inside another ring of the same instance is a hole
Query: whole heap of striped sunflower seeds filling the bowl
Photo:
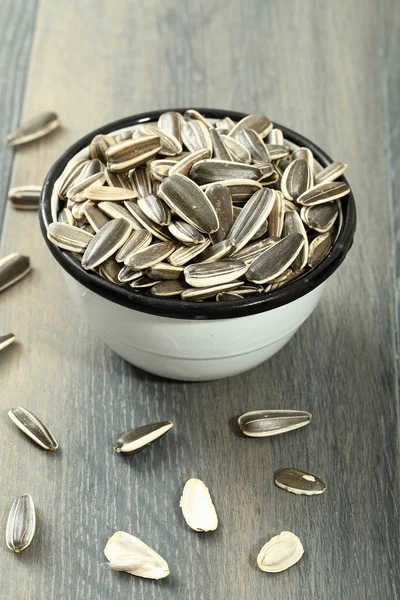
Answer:
[[288, 285], [330, 251], [350, 191], [337, 181], [347, 165], [315, 169], [312, 152], [261, 115], [213, 123], [169, 111], [97, 135], [84, 154], [60, 177], [49, 239], [82, 268], [159, 298], [235, 301]]

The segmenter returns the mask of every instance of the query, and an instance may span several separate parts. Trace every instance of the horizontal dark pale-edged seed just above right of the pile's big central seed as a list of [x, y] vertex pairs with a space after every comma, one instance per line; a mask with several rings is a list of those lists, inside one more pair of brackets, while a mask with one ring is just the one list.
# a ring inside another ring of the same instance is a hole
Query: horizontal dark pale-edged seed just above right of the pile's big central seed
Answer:
[[227, 162], [208, 158], [200, 160], [190, 170], [190, 177], [198, 185], [224, 182], [230, 179], [250, 179], [258, 181], [262, 177], [260, 169], [254, 165], [239, 162]]

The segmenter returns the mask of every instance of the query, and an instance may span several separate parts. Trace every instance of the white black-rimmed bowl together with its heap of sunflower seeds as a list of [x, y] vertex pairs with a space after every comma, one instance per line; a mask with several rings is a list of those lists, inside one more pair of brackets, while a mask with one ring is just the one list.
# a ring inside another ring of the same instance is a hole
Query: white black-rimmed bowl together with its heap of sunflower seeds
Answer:
[[218, 379], [275, 354], [316, 307], [353, 243], [346, 167], [265, 116], [148, 112], [64, 152], [41, 229], [116, 353], [164, 377]]

